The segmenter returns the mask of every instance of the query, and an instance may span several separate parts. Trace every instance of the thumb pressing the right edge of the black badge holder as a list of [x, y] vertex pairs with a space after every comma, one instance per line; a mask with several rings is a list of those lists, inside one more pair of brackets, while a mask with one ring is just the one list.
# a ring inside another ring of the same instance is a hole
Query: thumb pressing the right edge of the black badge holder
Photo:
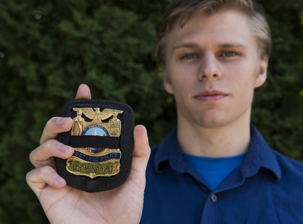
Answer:
[[145, 177], [145, 170], [150, 153], [151, 149], [148, 145], [146, 128], [143, 125], [137, 125], [134, 128], [132, 171], [135, 171], [139, 176]]

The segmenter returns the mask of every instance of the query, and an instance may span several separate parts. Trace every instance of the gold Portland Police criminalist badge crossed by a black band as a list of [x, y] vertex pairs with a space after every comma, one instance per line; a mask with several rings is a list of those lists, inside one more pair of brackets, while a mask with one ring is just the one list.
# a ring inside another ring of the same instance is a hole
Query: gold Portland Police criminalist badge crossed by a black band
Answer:
[[[117, 118], [123, 110], [100, 108], [73, 108], [77, 111], [77, 117], [73, 119], [71, 135], [99, 135], [119, 137], [121, 134], [121, 120]], [[95, 110], [95, 111], [94, 111]], [[87, 122], [82, 117], [82, 113], [91, 122]], [[108, 119], [108, 123], [102, 120]], [[90, 178], [96, 176], [112, 176], [120, 170], [120, 149], [82, 147], [74, 148], [74, 154], [66, 161], [66, 170], [76, 175], [85, 175]]]

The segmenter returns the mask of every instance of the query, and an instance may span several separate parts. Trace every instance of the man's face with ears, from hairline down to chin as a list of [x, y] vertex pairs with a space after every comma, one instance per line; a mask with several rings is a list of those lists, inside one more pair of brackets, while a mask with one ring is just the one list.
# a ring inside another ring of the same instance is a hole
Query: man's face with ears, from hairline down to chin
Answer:
[[175, 96], [178, 121], [222, 127], [250, 117], [254, 88], [265, 82], [266, 68], [248, 17], [221, 11], [169, 34], [164, 87]]

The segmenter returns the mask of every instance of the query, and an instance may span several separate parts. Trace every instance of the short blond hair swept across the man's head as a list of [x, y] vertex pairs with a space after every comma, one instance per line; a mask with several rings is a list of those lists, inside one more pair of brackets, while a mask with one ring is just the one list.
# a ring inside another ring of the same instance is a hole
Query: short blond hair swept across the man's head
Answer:
[[258, 41], [258, 52], [261, 58], [269, 56], [271, 51], [270, 28], [264, 13], [251, 0], [177, 0], [172, 3], [163, 15], [162, 25], [156, 46], [156, 58], [165, 66], [165, 51], [168, 34], [177, 25], [183, 27], [191, 18], [198, 15], [212, 15], [224, 9], [238, 10], [249, 17], [253, 34]]

